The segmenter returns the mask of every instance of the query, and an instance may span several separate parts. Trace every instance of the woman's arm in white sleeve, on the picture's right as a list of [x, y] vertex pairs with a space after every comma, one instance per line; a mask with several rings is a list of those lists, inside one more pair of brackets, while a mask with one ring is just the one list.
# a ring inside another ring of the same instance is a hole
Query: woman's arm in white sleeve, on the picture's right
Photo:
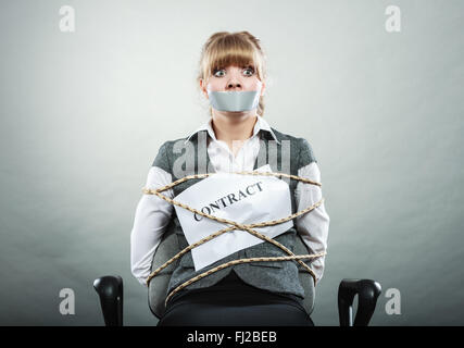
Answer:
[[[298, 176], [321, 183], [321, 171], [317, 162], [311, 162], [301, 167], [298, 171]], [[297, 210], [301, 211], [321, 200], [322, 189], [319, 186], [299, 182], [294, 191], [294, 197], [297, 200]], [[310, 253], [318, 253], [327, 250], [329, 222], [330, 219], [325, 210], [324, 203], [304, 215], [297, 217], [297, 231], [301, 235]], [[303, 260], [303, 262], [306, 261], [308, 263], [311, 261], [311, 269], [314, 271], [318, 282], [324, 273], [325, 256], [315, 260]]]

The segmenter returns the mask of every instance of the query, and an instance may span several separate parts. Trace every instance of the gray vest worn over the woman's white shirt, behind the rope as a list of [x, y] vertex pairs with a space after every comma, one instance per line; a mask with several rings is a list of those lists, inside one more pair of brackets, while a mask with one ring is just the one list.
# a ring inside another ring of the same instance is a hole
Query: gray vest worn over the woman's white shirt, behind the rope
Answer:
[[[262, 129], [260, 151], [258, 153], [253, 170], [261, 167], [262, 165], [269, 164], [273, 172], [298, 175], [299, 169], [310, 164], [311, 162], [317, 162], [308, 140], [304, 138], [297, 138], [287, 134], [283, 134], [274, 128], [272, 128], [272, 130], [280, 144], [274, 140], [272, 134], [268, 130]], [[206, 130], [200, 130], [196, 133], [187, 142], [187, 138], [164, 142], [161, 146], [156, 158], [154, 159], [153, 166], [161, 167], [170, 173], [172, 175], [173, 182], [187, 175], [214, 173], [214, 167], [208, 156], [206, 137]], [[174, 186], [174, 196], [179, 195], [186, 188], [195, 185], [201, 179], [203, 178], [189, 179]], [[297, 207], [294, 200], [294, 189], [297, 187], [298, 181], [284, 177], [281, 179], [285, 179], [289, 184], [292, 206], [291, 211], [292, 213], [296, 213]], [[167, 226], [167, 231], [174, 232], [176, 234], [179, 250], [188, 247], [187, 239], [184, 235], [175, 210], [173, 210], [173, 216]], [[294, 240], [297, 237], [297, 229], [294, 227], [293, 221], [293, 226], [291, 228], [276, 236], [274, 239], [293, 251]], [[189, 251], [179, 260], [177, 260], [177, 264], [175, 265], [168, 284], [167, 294], [191, 277], [225, 262], [244, 258], [281, 256], [288, 254], [280, 248], [267, 241], [263, 241], [255, 246], [234, 252], [196, 272], [191, 252]], [[303, 260], [303, 262], [310, 265], [311, 260], [306, 259]], [[298, 276], [298, 270], [302, 269], [303, 268], [293, 260], [248, 262], [228, 266], [221, 271], [214, 272], [190, 284], [186, 288], [197, 289], [212, 286], [234, 270], [237, 275], [249, 285], [274, 293], [292, 294], [303, 298], [304, 290]]]

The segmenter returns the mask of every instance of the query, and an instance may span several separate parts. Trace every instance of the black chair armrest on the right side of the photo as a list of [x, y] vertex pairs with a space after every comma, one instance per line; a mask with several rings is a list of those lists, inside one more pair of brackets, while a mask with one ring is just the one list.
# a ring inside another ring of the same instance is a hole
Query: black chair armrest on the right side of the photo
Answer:
[[338, 287], [338, 314], [340, 326], [353, 326], [352, 311], [358, 295], [358, 311], [354, 326], [367, 326], [377, 304], [381, 286], [371, 279], [342, 279]]

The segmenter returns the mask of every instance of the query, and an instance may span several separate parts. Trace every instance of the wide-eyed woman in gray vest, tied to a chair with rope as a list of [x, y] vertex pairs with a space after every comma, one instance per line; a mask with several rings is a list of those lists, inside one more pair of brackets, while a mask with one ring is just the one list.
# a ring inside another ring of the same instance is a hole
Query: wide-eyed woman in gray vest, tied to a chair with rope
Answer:
[[[202, 49], [198, 75], [198, 86], [211, 104], [211, 117], [183, 140], [195, 142], [192, 139], [198, 139], [199, 134], [208, 134], [206, 158], [215, 172], [253, 171], [258, 154], [262, 153], [262, 139], [266, 139], [266, 144], [288, 140], [293, 153], [298, 154], [292, 156], [292, 174], [319, 183], [321, 173], [309, 142], [277, 132], [263, 117], [265, 67], [260, 40], [250, 33], [223, 32], [212, 35]], [[298, 151], [294, 151], [296, 148]], [[160, 188], [185, 176], [174, 173], [174, 152], [173, 141], [163, 144], [150, 169], [147, 188]], [[298, 165], [294, 165], [297, 162]], [[163, 195], [174, 199], [181, 191], [176, 189], [175, 186]], [[296, 203], [293, 212], [314, 204], [322, 197], [321, 187], [301, 182], [291, 186], [291, 192], [292, 202]], [[131, 272], [146, 286], [152, 271], [151, 260], [163, 233], [166, 228], [176, 228], [172, 227], [176, 225], [172, 223], [177, 219], [174, 215], [173, 206], [154, 195], [143, 196], [137, 207], [131, 231]], [[187, 243], [178, 220], [176, 222], [179, 246], [185, 248]], [[291, 250], [298, 231], [310, 253], [323, 252], [327, 248], [328, 225], [329, 216], [324, 204], [321, 204], [297, 217], [294, 228], [274, 239]], [[271, 248], [268, 243], [240, 250], [212, 266], [244, 256], [269, 256], [269, 251], [274, 252], [273, 256], [285, 256], [281, 250], [265, 248]], [[319, 281], [324, 257], [305, 261], [306, 264], [311, 263], [315, 279]], [[302, 291], [294, 264], [294, 261], [243, 263], [213, 273], [176, 293], [168, 300], [159, 326], [312, 325], [310, 315], [302, 307]], [[173, 273], [170, 291], [193, 274], [197, 273], [192, 270], [191, 252], [187, 252]]]

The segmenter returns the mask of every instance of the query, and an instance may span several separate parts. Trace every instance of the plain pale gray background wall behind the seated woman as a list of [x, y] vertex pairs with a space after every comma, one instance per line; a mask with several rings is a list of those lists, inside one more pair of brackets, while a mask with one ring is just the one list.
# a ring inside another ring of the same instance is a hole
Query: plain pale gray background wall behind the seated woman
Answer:
[[[59, 29], [64, 5], [76, 29]], [[401, 32], [388, 33], [388, 5]], [[313, 320], [343, 277], [378, 281], [373, 325], [464, 324], [462, 1], [1, 1], [0, 324], [102, 325], [92, 281], [121, 274], [125, 323], [154, 325], [129, 234], [162, 142], [206, 120], [195, 74], [220, 30], [268, 57], [266, 120], [305, 137], [331, 217]], [[72, 288], [76, 314], [62, 315]], [[401, 314], [386, 312], [389, 288]]]

